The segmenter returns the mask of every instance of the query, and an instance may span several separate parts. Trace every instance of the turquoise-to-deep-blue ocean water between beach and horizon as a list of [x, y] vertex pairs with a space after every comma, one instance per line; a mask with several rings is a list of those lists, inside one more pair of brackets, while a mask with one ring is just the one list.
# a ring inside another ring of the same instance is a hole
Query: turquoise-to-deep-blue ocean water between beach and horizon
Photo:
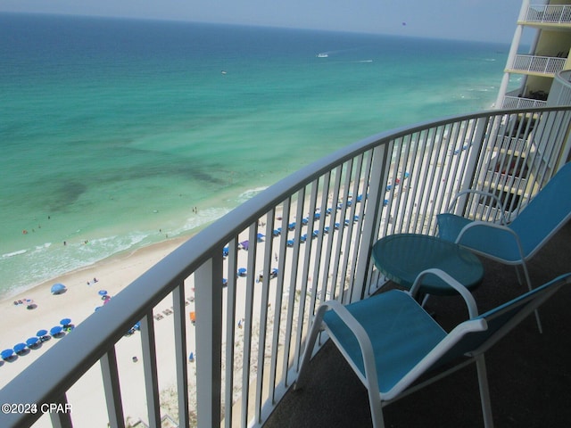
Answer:
[[191, 235], [363, 137], [488, 109], [508, 49], [0, 14], [0, 295]]

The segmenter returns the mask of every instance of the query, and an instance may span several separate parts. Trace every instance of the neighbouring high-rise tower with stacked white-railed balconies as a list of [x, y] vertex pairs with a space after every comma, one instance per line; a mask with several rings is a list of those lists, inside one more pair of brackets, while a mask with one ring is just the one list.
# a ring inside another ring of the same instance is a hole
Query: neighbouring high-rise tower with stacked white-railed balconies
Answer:
[[[542, 4], [522, 1], [495, 103], [498, 109], [571, 104], [571, 0], [537, 3]], [[488, 167], [479, 177], [480, 185], [496, 194], [508, 211], [519, 206], [522, 198], [533, 197], [537, 185], [528, 183], [541, 183], [542, 177], [550, 177], [569, 160], [571, 148], [569, 129], [550, 139], [543, 132], [548, 124], [539, 123], [534, 114], [516, 117], [502, 124], [502, 141], [482, 153]], [[483, 211], [488, 203], [483, 201]]]

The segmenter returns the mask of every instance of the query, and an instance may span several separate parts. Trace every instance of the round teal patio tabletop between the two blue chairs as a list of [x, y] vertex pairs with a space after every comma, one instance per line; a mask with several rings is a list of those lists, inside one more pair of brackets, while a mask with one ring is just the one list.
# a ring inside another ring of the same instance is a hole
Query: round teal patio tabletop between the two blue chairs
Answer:
[[[372, 258], [377, 269], [388, 279], [410, 289], [418, 274], [429, 268], [442, 269], [474, 290], [484, 277], [484, 268], [472, 252], [456, 243], [429, 235], [396, 234], [381, 238], [373, 245]], [[419, 292], [453, 295], [456, 291], [436, 276], [425, 276]]]

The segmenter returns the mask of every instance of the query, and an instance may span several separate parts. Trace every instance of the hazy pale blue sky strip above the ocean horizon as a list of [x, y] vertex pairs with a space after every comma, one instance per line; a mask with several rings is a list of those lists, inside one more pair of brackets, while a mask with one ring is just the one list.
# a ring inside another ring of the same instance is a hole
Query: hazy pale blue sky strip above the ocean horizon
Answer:
[[0, 0], [0, 12], [215, 22], [501, 43], [511, 43], [520, 7], [521, 0]]

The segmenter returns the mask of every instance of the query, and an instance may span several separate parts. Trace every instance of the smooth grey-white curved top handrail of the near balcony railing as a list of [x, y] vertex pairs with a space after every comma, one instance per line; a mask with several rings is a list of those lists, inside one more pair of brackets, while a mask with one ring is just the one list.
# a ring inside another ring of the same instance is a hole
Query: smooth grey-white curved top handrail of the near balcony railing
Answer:
[[[268, 213], [291, 195], [309, 185], [328, 171], [342, 165], [362, 152], [379, 145], [387, 144], [403, 136], [415, 134], [427, 129], [439, 128], [467, 120], [486, 119], [515, 113], [533, 114], [541, 111], [571, 111], [569, 107], [551, 107], [534, 109], [513, 109], [481, 111], [474, 114], [458, 115], [413, 126], [385, 131], [368, 136], [357, 143], [350, 144], [310, 165], [285, 177], [266, 191], [219, 218], [211, 226], [194, 235], [172, 251], [159, 263], [146, 271], [137, 280], [129, 284], [103, 309], [95, 312], [78, 325], [75, 331], [62, 338], [57, 346], [49, 349], [12, 383], [0, 391], [2, 402], [53, 401], [76, 383], [87, 369], [102, 358], [119, 342], [123, 334], [138, 320], [148, 315], [154, 306], [164, 299], [176, 286], [182, 284], [205, 261], [212, 257], [221, 257], [221, 249], [236, 234], [251, 226], [258, 218]], [[65, 364], [62, 364], [65, 361]], [[50, 369], [46, 370], [49, 366]], [[29, 379], [41, 379], [29, 388]], [[38, 415], [6, 416], [8, 424], [25, 424], [36, 420]]]

